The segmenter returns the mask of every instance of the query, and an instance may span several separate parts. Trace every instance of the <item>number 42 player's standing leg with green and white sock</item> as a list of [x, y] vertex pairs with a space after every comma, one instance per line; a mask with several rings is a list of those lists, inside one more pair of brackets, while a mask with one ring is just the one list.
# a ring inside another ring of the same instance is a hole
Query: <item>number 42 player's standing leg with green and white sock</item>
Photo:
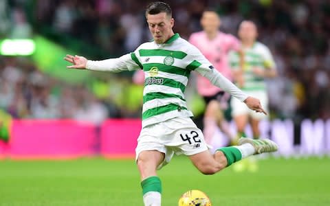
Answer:
[[164, 153], [157, 150], [140, 152], [137, 157], [137, 168], [141, 175], [143, 201], [146, 206], [160, 206], [162, 183], [157, 176], [157, 167], [164, 161]]

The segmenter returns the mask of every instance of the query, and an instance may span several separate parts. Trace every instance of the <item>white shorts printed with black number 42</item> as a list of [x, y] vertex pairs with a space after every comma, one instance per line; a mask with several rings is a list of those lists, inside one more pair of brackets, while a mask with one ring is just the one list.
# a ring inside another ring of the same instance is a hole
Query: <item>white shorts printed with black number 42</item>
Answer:
[[158, 166], [158, 170], [177, 155], [195, 155], [208, 150], [203, 133], [190, 117], [175, 117], [165, 122], [159, 122], [142, 128], [137, 147], [135, 149], [135, 161], [140, 152], [157, 150], [165, 154], [164, 161]]

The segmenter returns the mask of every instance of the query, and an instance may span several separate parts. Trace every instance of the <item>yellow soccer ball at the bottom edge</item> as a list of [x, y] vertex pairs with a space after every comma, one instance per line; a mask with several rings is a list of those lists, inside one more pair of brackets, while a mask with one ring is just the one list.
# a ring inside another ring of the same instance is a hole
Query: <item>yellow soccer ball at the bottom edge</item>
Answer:
[[208, 196], [199, 190], [189, 190], [182, 194], [179, 206], [211, 206]]

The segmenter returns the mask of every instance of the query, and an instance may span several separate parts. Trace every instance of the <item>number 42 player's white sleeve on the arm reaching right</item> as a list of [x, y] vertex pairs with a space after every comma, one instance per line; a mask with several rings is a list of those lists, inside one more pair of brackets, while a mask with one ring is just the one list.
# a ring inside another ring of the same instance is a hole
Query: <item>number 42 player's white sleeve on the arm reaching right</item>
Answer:
[[217, 69], [213, 67], [213, 65], [206, 59], [203, 54], [196, 48], [191, 47], [189, 49], [190, 55], [189, 64], [186, 69], [191, 71], [197, 71], [201, 74], [201, 76], [208, 78], [210, 82], [224, 91], [230, 93], [234, 98], [239, 99], [241, 102], [248, 98], [248, 95], [243, 93], [241, 89], [237, 88], [230, 80], [225, 78]]

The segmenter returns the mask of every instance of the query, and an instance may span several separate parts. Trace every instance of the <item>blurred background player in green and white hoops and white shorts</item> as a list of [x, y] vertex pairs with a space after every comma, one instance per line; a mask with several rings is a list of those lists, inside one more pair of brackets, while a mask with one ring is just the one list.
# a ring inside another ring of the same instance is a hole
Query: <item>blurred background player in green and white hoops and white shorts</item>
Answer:
[[[277, 76], [276, 65], [270, 49], [262, 43], [256, 41], [258, 36], [256, 24], [252, 21], [243, 21], [239, 26], [239, 38], [245, 54], [244, 66], [240, 67], [239, 54], [230, 53], [230, 65], [233, 69], [234, 78], [239, 80], [238, 86], [248, 95], [256, 96], [261, 100], [261, 105], [268, 111], [268, 98], [265, 78]], [[243, 69], [242, 69], [243, 68]], [[266, 115], [254, 113], [232, 98], [232, 117], [237, 126], [237, 137], [246, 137], [245, 127], [250, 122], [252, 126], [253, 138], [260, 138], [259, 122], [267, 118]], [[237, 164], [238, 168], [242, 165]], [[256, 170], [255, 159], [250, 159], [250, 170]], [[240, 170], [240, 169], [238, 169]]]

